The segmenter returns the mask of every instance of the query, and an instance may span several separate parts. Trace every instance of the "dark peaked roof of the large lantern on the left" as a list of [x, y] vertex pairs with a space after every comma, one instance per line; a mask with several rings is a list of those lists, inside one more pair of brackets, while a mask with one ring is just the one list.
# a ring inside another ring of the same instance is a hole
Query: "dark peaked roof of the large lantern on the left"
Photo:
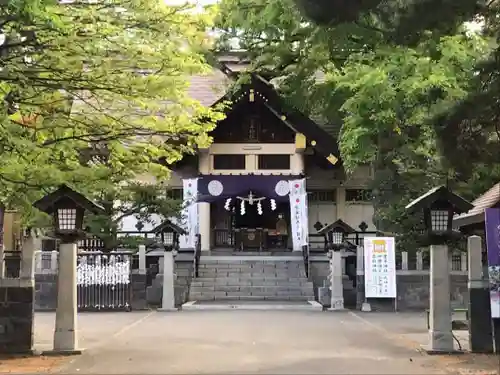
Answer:
[[76, 206], [83, 208], [86, 211], [90, 211], [94, 214], [104, 213], [103, 207], [92, 202], [90, 199], [87, 199], [84, 195], [71, 189], [65, 184], [60, 185], [57, 190], [37, 200], [33, 203], [33, 207], [47, 214], [52, 214], [56, 209], [58, 202], [68, 199], [73, 201]]

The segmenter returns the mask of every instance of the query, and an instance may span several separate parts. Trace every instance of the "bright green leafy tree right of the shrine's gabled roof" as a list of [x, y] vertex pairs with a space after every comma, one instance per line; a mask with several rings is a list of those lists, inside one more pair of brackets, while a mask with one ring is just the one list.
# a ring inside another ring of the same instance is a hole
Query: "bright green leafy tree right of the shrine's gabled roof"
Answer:
[[[458, 156], [476, 172], [458, 170], [443, 152], [442, 140], [451, 137], [434, 119], [477, 87], [475, 63], [493, 41], [462, 28], [451, 36], [426, 32], [406, 45], [396, 38], [401, 2], [297, 2], [223, 0], [220, 48], [237, 38], [256, 57], [253, 69], [275, 78], [293, 105], [342, 124], [334, 135], [346, 169], [375, 167], [377, 227], [418, 232], [420, 218], [408, 218], [403, 208], [435, 184], [450, 183], [467, 197], [478, 193], [477, 181], [492, 164]], [[323, 5], [321, 19], [311, 17], [310, 7]]]

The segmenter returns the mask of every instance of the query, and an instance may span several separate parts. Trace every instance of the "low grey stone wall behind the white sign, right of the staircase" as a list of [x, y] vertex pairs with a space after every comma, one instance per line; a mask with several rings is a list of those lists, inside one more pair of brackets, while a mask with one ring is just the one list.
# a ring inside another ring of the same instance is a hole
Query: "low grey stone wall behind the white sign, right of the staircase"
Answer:
[[[329, 274], [329, 260], [326, 256], [314, 256], [311, 259], [310, 280], [314, 284], [314, 293], [318, 297], [317, 288], [322, 287]], [[429, 271], [404, 271], [396, 273], [397, 282], [397, 309], [398, 311], [423, 311], [429, 308]], [[451, 301], [454, 308], [466, 308], [469, 301], [467, 289], [467, 273], [465, 271], [452, 271], [451, 275]], [[364, 302], [364, 276], [357, 276], [355, 288], [352, 283], [344, 278], [344, 299], [346, 307], [361, 309]], [[353, 292], [351, 292], [353, 291]], [[353, 294], [354, 293], [354, 294]], [[352, 299], [355, 299], [352, 301]], [[369, 299], [373, 310], [394, 311], [394, 299]]]

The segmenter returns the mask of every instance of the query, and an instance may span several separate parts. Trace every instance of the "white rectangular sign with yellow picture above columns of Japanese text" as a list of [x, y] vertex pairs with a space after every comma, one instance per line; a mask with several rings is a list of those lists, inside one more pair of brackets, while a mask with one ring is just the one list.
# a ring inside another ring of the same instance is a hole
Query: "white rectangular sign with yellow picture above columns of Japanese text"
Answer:
[[365, 297], [396, 298], [394, 237], [365, 237]]

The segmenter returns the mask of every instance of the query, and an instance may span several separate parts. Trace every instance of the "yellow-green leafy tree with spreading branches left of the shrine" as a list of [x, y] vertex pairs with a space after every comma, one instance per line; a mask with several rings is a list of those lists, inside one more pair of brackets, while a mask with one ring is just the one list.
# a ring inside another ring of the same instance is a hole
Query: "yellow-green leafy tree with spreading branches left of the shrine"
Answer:
[[[32, 216], [67, 183], [109, 216], [178, 211], [159, 183], [221, 118], [187, 94], [189, 76], [209, 70], [210, 25], [209, 13], [152, 0], [3, 1], [1, 201]], [[131, 183], [145, 174], [155, 184]]]

